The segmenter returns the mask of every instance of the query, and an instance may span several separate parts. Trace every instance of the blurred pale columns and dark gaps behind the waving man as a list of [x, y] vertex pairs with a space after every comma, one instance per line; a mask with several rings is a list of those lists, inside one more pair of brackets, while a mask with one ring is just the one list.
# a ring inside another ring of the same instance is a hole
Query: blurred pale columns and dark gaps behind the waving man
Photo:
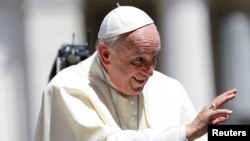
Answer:
[[0, 0], [0, 141], [32, 141], [59, 48], [74, 33], [93, 53], [117, 2], [154, 19], [162, 39], [156, 69], [184, 85], [197, 111], [237, 88], [225, 124], [250, 124], [249, 0]]

